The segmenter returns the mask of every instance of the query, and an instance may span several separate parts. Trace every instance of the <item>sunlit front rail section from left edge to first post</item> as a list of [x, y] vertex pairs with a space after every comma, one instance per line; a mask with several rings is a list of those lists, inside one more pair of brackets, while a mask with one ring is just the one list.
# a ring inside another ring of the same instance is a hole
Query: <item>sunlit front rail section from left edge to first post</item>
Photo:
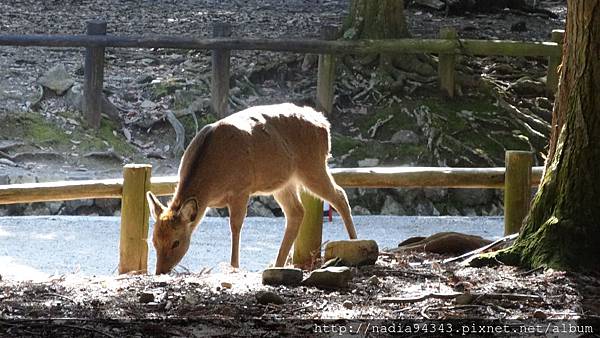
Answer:
[[0, 204], [121, 198], [122, 179], [0, 185]]

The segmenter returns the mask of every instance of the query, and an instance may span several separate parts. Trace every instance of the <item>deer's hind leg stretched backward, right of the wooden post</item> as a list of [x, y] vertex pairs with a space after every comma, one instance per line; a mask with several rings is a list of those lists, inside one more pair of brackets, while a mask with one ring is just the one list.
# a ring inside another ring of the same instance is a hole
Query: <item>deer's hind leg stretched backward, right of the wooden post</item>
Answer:
[[342, 216], [350, 239], [356, 239], [356, 229], [350, 213], [350, 204], [346, 192], [335, 183], [326, 166], [304, 173], [300, 176], [302, 184], [313, 194], [326, 200]]

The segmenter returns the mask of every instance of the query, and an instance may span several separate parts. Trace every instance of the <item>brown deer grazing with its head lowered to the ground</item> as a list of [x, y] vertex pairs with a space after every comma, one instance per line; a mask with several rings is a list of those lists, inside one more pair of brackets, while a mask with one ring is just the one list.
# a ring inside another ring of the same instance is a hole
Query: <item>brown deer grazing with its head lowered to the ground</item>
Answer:
[[207, 208], [229, 209], [231, 266], [239, 267], [240, 231], [252, 195], [273, 194], [285, 218], [275, 266], [283, 266], [304, 216], [299, 193], [328, 201], [356, 238], [346, 193], [327, 168], [329, 122], [312, 108], [257, 106], [202, 128], [183, 154], [179, 184], [168, 207], [151, 192], [156, 273], [177, 265]]

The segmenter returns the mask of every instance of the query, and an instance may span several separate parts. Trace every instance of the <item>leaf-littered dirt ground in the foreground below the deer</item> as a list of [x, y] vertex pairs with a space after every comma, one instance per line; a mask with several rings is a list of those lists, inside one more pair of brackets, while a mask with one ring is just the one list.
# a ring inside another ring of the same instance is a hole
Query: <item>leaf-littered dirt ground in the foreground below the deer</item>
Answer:
[[[0, 332], [11, 336], [279, 337], [334, 336], [327, 330], [337, 328], [348, 334], [379, 336], [384, 333], [382, 326], [394, 323], [444, 325], [437, 333], [452, 328], [458, 335], [473, 325], [490, 323], [510, 325], [510, 330], [565, 323], [587, 325], [588, 331], [589, 327], [600, 329], [598, 274], [470, 268], [440, 264], [441, 258], [383, 253], [376, 265], [352, 268], [349, 287], [335, 290], [263, 286], [258, 273], [226, 269], [161, 276], [7, 280], [0, 283]], [[272, 297], [280, 298], [281, 304], [259, 301], [264, 291], [274, 293]]]

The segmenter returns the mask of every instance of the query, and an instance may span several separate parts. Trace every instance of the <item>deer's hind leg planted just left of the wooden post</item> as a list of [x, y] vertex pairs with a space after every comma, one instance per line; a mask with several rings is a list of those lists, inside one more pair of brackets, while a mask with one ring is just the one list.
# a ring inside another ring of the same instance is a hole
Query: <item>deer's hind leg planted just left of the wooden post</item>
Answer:
[[285, 265], [296, 236], [298, 236], [300, 224], [304, 217], [304, 207], [302, 207], [302, 202], [300, 202], [300, 197], [298, 196], [298, 187], [294, 184], [275, 192], [273, 197], [275, 197], [275, 200], [279, 203], [285, 214], [285, 233], [283, 234], [283, 240], [281, 241], [277, 260], [275, 261], [276, 267], [282, 267]]

